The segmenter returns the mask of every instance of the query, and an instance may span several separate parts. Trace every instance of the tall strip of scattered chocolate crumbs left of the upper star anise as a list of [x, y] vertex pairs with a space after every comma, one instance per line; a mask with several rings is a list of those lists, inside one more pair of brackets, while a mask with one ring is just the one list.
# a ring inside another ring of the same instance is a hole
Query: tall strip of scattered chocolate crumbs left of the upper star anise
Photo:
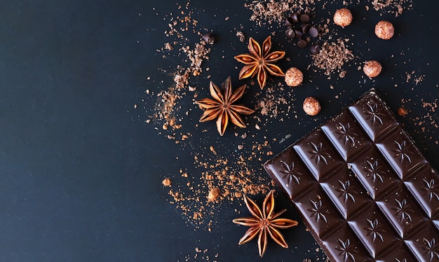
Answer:
[[[165, 53], [166, 55], [163, 55], [165, 58], [171, 55], [183, 59], [177, 64], [173, 73], [175, 85], [158, 92], [154, 113], [145, 120], [146, 123], [158, 125], [156, 129], [163, 130], [164, 135], [168, 139], [175, 140], [176, 144], [191, 137], [189, 132], [181, 130], [183, 114], [180, 112], [182, 110], [180, 100], [187, 96], [187, 90], [191, 92], [196, 90], [196, 87], [189, 85], [190, 79], [203, 73], [203, 62], [209, 59], [208, 54], [211, 51], [201, 39], [202, 34], [197, 29], [198, 21], [192, 18], [193, 12], [189, 10], [189, 2], [185, 6], [178, 6], [178, 9], [180, 15], [170, 16], [169, 29], [165, 31], [165, 35], [171, 41], [163, 43], [163, 47], [157, 51]], [[190, 39], [194, 39], [194, 36], [199, 37], [200, 40], [192, 46], [190, 43], [193, 40]], [[198, 94], [194, 92], [191, 95], [195, 98]], [[187, 113], [188, 111], [186, 115]], [[177, 130], [181, 131], [177, 132]]]

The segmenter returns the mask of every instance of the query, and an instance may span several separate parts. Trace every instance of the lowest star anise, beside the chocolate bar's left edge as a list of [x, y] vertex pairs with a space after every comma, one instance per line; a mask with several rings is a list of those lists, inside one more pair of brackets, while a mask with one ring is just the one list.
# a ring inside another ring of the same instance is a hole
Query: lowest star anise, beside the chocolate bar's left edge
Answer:
[[259, 249], [259, 256], [264, 256], [266, 250], [266, 242], [268, 242], [268, 235], [282, 247], [288, 248], [288, 244], [283, 239], [283, 235], [278, 228], [290, 228], [297, 226], [297, 221], [291, 219], [278, 219], [278, 216], [283, 214], [286, 209], [281, 212], [273, 214], [274, 197], [273, 190], [270, 191], [262, 204], [262, 210], [256, 205], [253, 200], [244, 195], [244, 202], [250, 214], [253, 217], [246, 217], [243, 219], [234, 219], [233, 222], [242, 226], [250, 226], [245, 235], [241, 237], [238, 244], [249, 242], [258, 235], [257, 247]]

